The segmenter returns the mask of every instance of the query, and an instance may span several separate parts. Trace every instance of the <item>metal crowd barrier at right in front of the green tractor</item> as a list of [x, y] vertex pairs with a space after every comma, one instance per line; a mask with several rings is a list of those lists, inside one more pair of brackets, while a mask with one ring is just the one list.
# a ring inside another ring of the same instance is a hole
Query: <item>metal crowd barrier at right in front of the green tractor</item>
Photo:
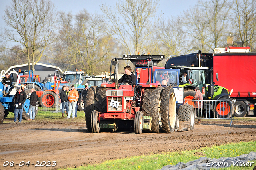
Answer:
[[233, 125], [233, 104], [228, 100], [184, 100], [194, 106], [197, 119], [230, 119]]

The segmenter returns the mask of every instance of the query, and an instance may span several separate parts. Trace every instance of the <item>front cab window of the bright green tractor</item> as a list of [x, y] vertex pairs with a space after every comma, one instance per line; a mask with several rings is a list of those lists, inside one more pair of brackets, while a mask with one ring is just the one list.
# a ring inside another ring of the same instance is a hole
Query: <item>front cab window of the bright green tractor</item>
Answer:
[[204, 70], [191, 70], [188, 75], [189, 83], [196, 86], [202, 86], [205, 84], [205, 72]]

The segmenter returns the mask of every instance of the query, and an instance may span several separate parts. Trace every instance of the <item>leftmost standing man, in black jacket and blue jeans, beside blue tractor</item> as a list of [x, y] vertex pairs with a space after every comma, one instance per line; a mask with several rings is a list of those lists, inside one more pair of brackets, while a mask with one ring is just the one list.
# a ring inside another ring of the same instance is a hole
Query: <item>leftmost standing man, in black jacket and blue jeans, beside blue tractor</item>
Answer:
[[19, 114], [19, 122], [22, 120], [22, 113], [24, 107], [24, 101], [26, 100], [26, 93], [20, 87], [17, 87], [17, 93], [14, 95], [14, 122], [17, 122]]

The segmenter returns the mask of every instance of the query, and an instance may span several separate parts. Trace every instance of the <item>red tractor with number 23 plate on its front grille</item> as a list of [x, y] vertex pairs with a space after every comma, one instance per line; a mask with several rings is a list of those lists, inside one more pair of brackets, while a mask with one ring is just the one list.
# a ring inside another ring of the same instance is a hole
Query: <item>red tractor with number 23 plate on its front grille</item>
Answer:
[[[123, 58], [112, 59], [110, 73], [114, 65], [116, 81], [119, 60], [130, 60], [136, 70], [138, 68], [147, 70], [148, 77], [143, 77], [144, 82], [142, 77], [140, 79], [137, 77], [137, 81], [140, 81], [137, 85], [128, 85], [126, 83], [131, 81], [125, 80], [120, 84], [106, 82], [102, 83], [101, 87], [90, 87], [84, 104], [88, 131], [98, 133], [100, 129], [117, 130], [118, 128], [118, 130], [134, 130], [136, 134], [142, 133], [142, 130], [155, 133], [174, 132], [175, 124], [179, 123], [176, 119], [174, 89], [161, 87], [160, 83], [154, 83], [153, 78], [153, 65], [164, 58], [164, 55], [123, 55]], [[135, 94], [134, 88], [136, 88]], [[135, 107], [132, 107], [134, 101]], [[194, 117], [194, 108], [189, 109]], [[193, 117], [191, 117], [192, 121], [194, 121]], [[192, 126], [194, 128], [194, 124]]]

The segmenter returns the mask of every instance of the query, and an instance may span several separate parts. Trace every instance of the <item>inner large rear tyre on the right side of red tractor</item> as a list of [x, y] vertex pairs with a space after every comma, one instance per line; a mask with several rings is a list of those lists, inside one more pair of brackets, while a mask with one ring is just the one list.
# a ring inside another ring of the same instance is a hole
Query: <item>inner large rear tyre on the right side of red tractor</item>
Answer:
[[160, 95], [163, 87], [158, 86], [157, 88], [148, 88], [144, 90], [142, 99], [143, 114], [152, 118], [151, 131], [154, 133], [160, 133]]

